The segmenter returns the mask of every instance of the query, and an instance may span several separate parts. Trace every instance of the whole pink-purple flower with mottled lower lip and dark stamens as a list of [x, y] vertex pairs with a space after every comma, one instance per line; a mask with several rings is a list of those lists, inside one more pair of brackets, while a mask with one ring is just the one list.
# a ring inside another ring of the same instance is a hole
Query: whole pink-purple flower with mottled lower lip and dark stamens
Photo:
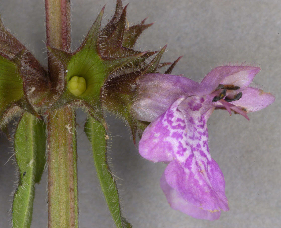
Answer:
[[139, 82], [133, 113], [151, 124], [139, 142], [142, 157], [167, 162], [160, 186], [172, 208], [195, 218], [228, 211], [225, 181], [209, 153], [207, 120], [214, 109], [246, 117], [274, 96], [248, 87], [259, 67], [221, 66], [196, 83], [182, 76], [147, 74]]

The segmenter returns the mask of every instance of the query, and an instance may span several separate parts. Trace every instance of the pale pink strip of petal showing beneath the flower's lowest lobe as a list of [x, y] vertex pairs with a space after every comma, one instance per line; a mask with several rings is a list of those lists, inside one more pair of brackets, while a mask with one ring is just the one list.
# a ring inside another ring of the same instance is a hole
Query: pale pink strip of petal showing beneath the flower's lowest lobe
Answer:
[[160, 187], [164, 192], [168, 203], [171, 208], [179, 210], [187, 215], [190, 215], [194, 218], [215, 220], [218, 219], [221, 215], [220, 211], [210, 212], [200, 208], [195, 207], [190, 202], [183, 199], [183, 197], [167, 183], [165, 174], [162, 174], [160, 179]]

